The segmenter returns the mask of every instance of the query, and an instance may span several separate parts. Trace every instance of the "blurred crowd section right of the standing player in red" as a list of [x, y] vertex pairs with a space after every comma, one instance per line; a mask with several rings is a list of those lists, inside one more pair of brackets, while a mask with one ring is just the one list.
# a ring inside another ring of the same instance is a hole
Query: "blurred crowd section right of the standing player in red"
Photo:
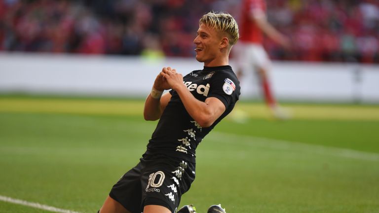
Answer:
[[272, 58], [379, 63], [379, 0], [267, 0], [268, 17], [294, 51], [266, 40]]

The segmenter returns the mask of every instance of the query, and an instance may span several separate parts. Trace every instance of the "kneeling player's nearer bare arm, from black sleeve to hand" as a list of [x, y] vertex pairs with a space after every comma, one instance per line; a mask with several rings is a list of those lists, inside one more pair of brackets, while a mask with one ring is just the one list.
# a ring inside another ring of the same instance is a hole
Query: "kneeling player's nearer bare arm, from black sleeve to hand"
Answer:
[[210, 97], [205, 102], [197, 100], [183, 83], [183, 76], [175, 70], [163, 69], [162, 76], [183, 102], [189, 115], [201, 126], [209, 127], [225, 111], [225, 105], [217, 98]]

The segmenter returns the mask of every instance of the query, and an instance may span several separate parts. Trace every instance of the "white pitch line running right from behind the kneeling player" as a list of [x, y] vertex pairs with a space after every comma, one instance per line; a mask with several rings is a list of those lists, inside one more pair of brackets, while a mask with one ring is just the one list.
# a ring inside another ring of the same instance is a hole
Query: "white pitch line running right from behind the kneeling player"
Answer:
[[244, 144], [258, 145], [261, 147], [268, 147], [273, 149], [298, 150], [302, 152], [305, 151], [329, 156], [338, 156], [368, 161], [379, 161], [378, 153], [358, 151], [347, 148], [260, 138], [246, 135], [237, 135], [232, 133], [222, 133], [216, 131], [210, 134], [210, 138], [216, 138], [218, 141], [244, 142]]

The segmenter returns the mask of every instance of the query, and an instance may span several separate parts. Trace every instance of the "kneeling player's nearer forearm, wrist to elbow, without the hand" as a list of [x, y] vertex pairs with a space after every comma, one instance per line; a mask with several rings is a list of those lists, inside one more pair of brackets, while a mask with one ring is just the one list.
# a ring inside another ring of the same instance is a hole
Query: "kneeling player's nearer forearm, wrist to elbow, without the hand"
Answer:
[[189, 115], [201, 126], [209, 127], [216, 119], [213, 119], [212, 110], [202, 101], [197, 100], [187, 89], [185, 85], [177, 88], [178, 93], [184, 107]]

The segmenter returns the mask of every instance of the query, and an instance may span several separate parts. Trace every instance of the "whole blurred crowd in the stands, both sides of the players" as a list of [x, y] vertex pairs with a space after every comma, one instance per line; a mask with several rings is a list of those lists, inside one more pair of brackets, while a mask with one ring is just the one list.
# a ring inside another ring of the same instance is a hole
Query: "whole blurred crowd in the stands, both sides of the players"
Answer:
[[[266, 0], [274, 60], [379, 63], [379, 0]], [[0, 0], [0, 51], [189, 57], [202, 14], [240, 0]]]

